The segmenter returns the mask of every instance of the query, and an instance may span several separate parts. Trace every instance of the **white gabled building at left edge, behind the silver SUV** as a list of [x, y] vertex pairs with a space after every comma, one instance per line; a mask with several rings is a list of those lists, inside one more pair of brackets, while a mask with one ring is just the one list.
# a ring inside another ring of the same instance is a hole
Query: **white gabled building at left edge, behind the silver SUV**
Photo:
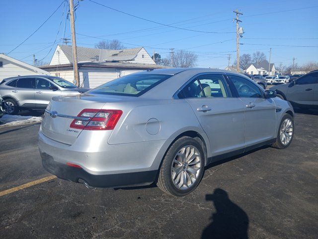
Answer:
[[10, 56], [0, 54], [0, 81], [8, 77], [27, 75], [50, 75], [50, 73]]

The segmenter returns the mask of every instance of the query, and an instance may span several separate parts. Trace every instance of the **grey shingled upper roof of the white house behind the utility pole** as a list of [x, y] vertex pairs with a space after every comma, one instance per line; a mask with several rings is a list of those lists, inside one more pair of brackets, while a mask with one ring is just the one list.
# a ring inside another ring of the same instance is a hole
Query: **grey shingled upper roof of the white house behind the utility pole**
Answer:
[[[73, 63], [72, 46], [59, 45], [61, 50], [65, 53], [68, 60]], [[131, 61], [143, 47], [121, 49], [121, 50], [107, 50], [88, 47], [77, 47], [78, 62], [92, 62], [92, 61]]]

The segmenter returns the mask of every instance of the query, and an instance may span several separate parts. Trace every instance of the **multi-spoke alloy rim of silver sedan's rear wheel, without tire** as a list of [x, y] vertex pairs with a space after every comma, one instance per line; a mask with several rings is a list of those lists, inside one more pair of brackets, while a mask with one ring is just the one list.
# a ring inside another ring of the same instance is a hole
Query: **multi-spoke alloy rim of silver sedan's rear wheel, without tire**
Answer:
[[171, 179], [176, 188], [187, 190], [197, 180], [201, 170], [201, 154], [193, 145], [182, 147], [175, 155], [171, 167]]

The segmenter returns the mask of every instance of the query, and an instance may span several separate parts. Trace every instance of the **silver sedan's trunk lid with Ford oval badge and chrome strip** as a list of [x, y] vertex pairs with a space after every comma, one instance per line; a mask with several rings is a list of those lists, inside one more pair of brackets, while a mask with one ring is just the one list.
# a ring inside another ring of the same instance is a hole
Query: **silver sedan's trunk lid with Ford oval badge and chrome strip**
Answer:
[[[47, 111], [56, 112], [59, 115], [76, 117], [83, 109], [102, 109], [109, 102], [118, 102], [122, 99], [100, 95], [75, 95], [53, 97], [47, 107]], [[45, 136], [66, 144], [73, 144], [82, 129], [70, 128], [73, 119], [65, 117], [52, 117], [45, 113], [42, 121], [42, 132]]]

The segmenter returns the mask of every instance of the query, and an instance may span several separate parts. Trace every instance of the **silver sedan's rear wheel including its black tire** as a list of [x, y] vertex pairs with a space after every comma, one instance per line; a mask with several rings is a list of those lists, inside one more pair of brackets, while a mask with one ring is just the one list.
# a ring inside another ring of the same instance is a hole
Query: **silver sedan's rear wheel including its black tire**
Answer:
[[200, 183], [205, 165], [201, 143], [191, 137], [177, 139], [163, 158], [157, 186], [165, 193], [182, 197]]

